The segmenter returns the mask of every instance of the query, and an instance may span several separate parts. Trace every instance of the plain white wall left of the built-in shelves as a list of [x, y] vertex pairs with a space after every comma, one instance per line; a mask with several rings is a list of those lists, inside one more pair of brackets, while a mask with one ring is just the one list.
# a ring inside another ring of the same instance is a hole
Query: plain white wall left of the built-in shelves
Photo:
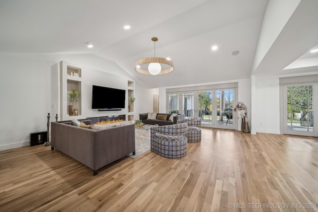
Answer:
[[31, 132], [46, 131], [51, 65], [43, 60], [0, 56], [0, 150], [29, 144]]

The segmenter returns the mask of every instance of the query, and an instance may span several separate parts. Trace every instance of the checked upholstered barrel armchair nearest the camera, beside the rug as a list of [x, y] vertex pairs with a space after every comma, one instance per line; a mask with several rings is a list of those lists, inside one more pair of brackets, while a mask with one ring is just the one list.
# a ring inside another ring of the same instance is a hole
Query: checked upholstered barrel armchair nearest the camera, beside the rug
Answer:
[[179, 158], [187, 154], [187, 123], [164, 125], [150, 129], [150, 147], [153, 152]]

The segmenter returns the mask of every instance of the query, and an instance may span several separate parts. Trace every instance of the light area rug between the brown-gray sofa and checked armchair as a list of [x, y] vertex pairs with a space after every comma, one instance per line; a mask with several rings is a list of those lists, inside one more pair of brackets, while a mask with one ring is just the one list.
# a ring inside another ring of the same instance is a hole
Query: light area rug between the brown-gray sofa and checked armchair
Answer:
[[136, 158], [150, 149], [150, 129], [135, 129], [135, 147], [136, 154], [130, 153], [127, 156]]

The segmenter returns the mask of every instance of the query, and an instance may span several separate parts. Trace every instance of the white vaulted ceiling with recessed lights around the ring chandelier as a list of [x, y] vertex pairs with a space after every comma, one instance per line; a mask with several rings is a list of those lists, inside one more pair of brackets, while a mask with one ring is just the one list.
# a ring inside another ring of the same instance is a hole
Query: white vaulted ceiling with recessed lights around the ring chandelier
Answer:
[[[94, 54], [115, 62], [151, 88], [248, 78], [267, 3], [268, 0], [0, 0], [0, 52]], [[131, 29], [125, 30], [126, 24]], [[316, 31], [317, 28], [316, 25]], [[134, 70], [137, 60], [154, 56], [152, 37], [159, 38], [156, 57], [170, 57], [174, 62], [172, 73], [150, 76]], [[88, 49], [85, 42], [94, 48]], [[313, 38], [288, 60], [293, 62], [310, 50], [308, 45], [312, 48], [317, 44]], [[213, 52], [212, 45], [219, 49]], [[279, 46], [275, 41], [271, 49]], [[233, 56], [236, 50], [239, 55]], [[266, 55], [261, 67], [272, 63], [268, 58], [271, 57]], [[277, 65], [280, 71], [285, 63]]]

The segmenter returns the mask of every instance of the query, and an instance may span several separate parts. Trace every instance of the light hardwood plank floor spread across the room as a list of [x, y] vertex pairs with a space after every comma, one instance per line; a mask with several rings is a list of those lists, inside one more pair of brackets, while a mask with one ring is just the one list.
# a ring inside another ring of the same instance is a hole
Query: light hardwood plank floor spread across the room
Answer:
[[0, 211], [318, 212], [318, 138], [202, 129], [183, 158], [149, 150], [96, 176], [50, 146], [4, 150]]

